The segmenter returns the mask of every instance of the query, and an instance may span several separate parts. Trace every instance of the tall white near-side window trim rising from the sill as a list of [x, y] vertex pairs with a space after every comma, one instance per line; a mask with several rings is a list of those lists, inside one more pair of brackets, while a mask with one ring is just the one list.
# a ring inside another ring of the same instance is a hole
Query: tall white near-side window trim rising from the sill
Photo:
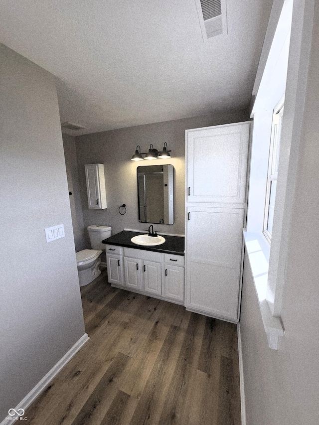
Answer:
[[272, 249], [267, 286], [267, 302], [279, 316], [285, 284], [291, 219], [298, 181], [299, 149], [303, 143], [304, 105], [314, 26], [315, 0], [294, 1], [289, 51], [285, 117], [279, 155], [276, 198], [282, 199], [274, 214]]

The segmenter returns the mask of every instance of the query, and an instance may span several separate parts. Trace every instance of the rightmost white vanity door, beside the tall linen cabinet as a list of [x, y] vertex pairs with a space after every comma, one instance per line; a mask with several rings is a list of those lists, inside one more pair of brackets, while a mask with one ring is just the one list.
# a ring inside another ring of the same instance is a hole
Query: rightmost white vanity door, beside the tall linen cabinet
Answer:
[[163, 295], [175, 301], [184, 300], [184, 268], [163, 264]]

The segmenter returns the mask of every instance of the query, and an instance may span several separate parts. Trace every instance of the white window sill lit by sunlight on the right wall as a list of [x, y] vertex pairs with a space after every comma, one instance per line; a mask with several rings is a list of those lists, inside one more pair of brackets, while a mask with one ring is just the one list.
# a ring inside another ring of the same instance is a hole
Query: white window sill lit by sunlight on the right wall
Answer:
[[278, 350], [284, 329], [280, 317], [272, 315], [266, 300], [270, 245], [262, 233], [247, 232], [243, 229], [243, 234], [268, 345], [271, 349]]

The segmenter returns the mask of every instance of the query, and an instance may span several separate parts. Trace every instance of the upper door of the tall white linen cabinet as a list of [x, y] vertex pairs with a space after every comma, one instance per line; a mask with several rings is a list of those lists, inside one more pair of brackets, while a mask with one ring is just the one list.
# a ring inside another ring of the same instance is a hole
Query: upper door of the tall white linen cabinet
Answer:
[[244, 204], [250, 123], [186, 131], [186, 202]]

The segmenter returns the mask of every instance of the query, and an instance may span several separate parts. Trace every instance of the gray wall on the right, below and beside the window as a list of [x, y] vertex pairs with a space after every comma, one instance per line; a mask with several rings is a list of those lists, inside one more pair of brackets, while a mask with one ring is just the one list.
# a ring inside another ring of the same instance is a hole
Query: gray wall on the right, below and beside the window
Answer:
[[[308, 75], [302, 75], [307, 82], [305, 107], [303, 114], [296, 118], [302, 127], [302, 143], [288, 223], [281, 311], [285, 336], [278, 352], [268, 347], [250, 266], [245, 258], [240, 329], [247, 425], [319, 424], [318, 46], [319, 4], [316, 1], [310, 66]], [[304, 65], [300, 64], [300, 69]], [[290, 77], [287, 85], [292, 81]]]

